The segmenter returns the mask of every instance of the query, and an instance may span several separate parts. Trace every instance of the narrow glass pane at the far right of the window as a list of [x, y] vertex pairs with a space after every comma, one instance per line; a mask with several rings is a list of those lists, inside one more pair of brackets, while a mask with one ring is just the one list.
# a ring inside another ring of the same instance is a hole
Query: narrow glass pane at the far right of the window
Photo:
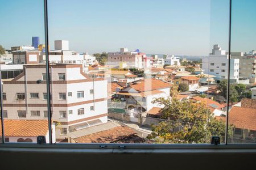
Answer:
[[[238, 72], [239, 78], [229, 84], [229, 143], [256, 142], [255, 5], [255, 1], [232, 1], [230, 77]], [[239, 66], [234, 66], [233, 61]]]

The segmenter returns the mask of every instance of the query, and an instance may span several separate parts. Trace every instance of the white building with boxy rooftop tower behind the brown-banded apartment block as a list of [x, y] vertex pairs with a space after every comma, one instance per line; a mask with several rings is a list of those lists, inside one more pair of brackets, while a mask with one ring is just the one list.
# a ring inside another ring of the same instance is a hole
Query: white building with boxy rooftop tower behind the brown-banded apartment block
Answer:
[[[79, 63], [82, 64], [83, 71], [86, 71], [89, 65], [96, 62], [96, 57], [83, 53], [82, 55], [69, 50], [69, 42], [67, 40], [55, 40], [55, 49], [49, 51], [50, 63]], [[40, 63], [46, 61], [45, 53], [40, 55]]]

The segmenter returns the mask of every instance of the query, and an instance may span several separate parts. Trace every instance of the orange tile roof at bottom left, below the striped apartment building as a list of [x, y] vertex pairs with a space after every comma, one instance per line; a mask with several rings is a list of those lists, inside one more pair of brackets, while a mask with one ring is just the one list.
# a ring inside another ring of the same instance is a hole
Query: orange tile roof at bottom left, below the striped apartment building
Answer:
[[[3, 120], [6, 137], [37, 137], [48, 132], [48, 120]], [[0, 126], [2, 135], [2, 127]]]

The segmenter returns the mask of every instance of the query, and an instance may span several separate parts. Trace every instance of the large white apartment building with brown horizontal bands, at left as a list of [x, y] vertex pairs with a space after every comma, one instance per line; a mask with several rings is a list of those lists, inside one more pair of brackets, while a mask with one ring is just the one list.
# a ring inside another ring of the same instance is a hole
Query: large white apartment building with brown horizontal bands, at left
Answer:
[[[52, 120], [56, 141], [70, 131], [107, 122], [107, 80], [91, 79], [81, 65], [50, 65]], [[47, 119], [46, 66], [24, 65], [23, 73], [3, 80], [3, 111], [10, 120]]]

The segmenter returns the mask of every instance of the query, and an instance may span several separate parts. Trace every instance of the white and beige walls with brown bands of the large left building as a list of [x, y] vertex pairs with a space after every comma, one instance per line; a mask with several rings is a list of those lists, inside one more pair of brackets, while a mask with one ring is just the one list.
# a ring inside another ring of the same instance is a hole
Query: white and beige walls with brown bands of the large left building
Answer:
[[[38, 120], [47, 119], [44, 117], [44, 111], [47, 111], [47, 100], [43, 99], [43, 93], [46, 93], [46, 81], [35, 83], [36, 80], [42, 80], [42, 73], [46, 72], [43, 65], [26, 66], [24, 68], [25, 76], [16, 78], [16, 82], [3, 82], [3, 92], [6, 92], [6, 100], [3, 101], [3, 110], [7, 111], [9, 119], [27, 119]], [[64, 66], [64, 67], [63, 67]], [[67, 135], [60, 135], [61, 128], [68, 128], [69, 125], [79, 124], [99, 118], [102, 123], [107, 122], [108, 104], [107, 104], [107, 80], [86, 80], [81, 73], [80, 65], [56, 65], [51, 67], [51, 99], [52, 99], [52, 120], [61, 123], [56, 128], [56, 138], [65, 138]], [[65, 81], [58, 79], [58, 73], [65, 73]], [[25, 83], [27, 80], [27, 83]], [[81, 81], [82, 80], [82, 81]], [[72, 81], [71, 83], [68, 83]], [[90, 94], [93, 90], [94, 94]], [[84, 91], [84, 97], [77, 98], [77, 91]], [[23, 92], [27, 95], [25, 100], [16, 100], [16, 93]], [[31, 99], [30, 93], [39, 93], [39, 99]], [[68, 96], [72, 92], [72, 96]], [[66, 94], [66, 100], [59, 99], [59, 93]], [[94, 106], [94, 111], [90, 107]], [[84, 108], [84, 114], [78, 115], [77, 109]], [[69, 114], [68, 111], [73, 113]], [[26, 111], [26, 118], [18, 117], [18, 111]], [[40, 111], [40, 116], [31, 116], [31, 111]], [[60, 118], [60, 111], [66, 111], [67, 117]]]

